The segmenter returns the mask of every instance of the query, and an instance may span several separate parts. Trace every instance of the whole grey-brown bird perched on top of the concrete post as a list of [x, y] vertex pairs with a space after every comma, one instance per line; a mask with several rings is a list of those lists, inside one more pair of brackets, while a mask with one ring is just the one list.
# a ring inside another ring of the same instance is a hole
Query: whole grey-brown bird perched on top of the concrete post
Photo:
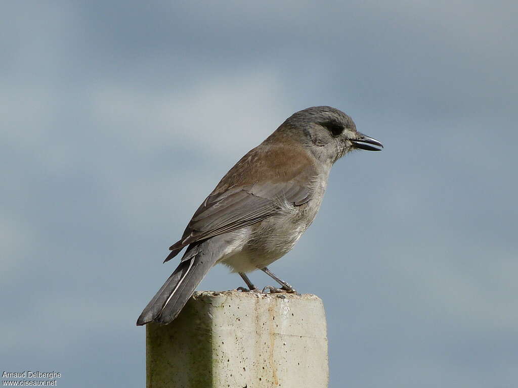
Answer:
[[260, 292], [246, 274], [262, 270], [282, 286], [281, 290], [267, 287], [270, 292], [295, 292], [267, 266], [292, 249], [311, 225], [333, 164], [350, 151], [381, 148], [378, 140], [356, 131], [351, 117], [336, 108], [307, 108], [287, 118], [244, 155], [198, 207], [164, 260], [187, 247], [180, 264], [142, 311], [137, 325], [174, 320], [217, 263], [237, 272], [249, 291]]

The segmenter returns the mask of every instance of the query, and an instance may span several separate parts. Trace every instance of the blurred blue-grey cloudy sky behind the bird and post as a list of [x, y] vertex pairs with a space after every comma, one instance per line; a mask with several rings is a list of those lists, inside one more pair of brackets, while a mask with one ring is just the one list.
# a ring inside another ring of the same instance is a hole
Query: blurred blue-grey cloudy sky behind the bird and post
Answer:
[[[330, 105], [385, 150], [335, 165], [271, 266], [324, 301], [330, 387], [516, 386], [517, 4], [3, 4], [0, 368], [143, 386], [167, 247], [244, 153]], [[215, 267], [199, 289], [240, 285]]]

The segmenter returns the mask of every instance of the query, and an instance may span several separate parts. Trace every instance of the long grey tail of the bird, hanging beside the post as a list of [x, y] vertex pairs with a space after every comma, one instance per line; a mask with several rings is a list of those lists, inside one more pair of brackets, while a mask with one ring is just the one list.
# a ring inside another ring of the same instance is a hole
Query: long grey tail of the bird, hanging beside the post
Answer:
[[218, 238], [191, 245], [160, 290], [153, 296], [137, 320], [137, 326], [149, 322], [167, 324], [174, 320], [194, 289], [219, 258]]

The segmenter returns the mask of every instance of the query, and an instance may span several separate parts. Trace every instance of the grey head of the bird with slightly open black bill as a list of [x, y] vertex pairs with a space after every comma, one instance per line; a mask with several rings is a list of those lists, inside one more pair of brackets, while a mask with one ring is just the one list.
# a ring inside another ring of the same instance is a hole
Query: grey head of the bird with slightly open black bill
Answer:
[[356, 130], [351, 117], [332, 107], [311, 107], [291, 115], [278, 131], [303, 143], [318, 159], [334, 163], [353, 150], [381, 151], [376, 139]]

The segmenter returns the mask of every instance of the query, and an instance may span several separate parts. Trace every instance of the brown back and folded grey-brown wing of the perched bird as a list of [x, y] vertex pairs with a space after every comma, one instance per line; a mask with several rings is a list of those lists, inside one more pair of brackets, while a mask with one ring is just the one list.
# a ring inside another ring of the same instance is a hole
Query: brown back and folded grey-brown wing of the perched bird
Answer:
[[198, 207], [165, 261], [189, 244], [262, 221], [284, 201], [295, 206], [306, 203], [314, 175], [311, 158], [293, 147], [254, 148]]

